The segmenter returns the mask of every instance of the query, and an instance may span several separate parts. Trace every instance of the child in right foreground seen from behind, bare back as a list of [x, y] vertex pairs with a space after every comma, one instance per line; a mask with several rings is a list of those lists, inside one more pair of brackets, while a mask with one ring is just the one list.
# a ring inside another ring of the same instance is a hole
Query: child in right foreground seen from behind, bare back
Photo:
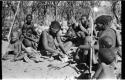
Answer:
[[96, 79], [116, 79], [115, 54], [112, 49], [103, 48], [99, 51], [100, 64], [93, 78]]

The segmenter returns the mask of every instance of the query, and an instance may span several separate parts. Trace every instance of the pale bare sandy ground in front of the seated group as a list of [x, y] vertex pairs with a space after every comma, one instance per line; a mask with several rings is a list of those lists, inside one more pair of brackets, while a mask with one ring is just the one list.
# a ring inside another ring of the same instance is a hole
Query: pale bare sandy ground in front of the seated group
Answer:
[[[2, 41], [2, 55], [7, 49], [7, 42]], [[51, 66], [50, 66], [51, 65]], [[2, 77], [3, 79], [74, 79], [78, 76], [77, 72], [66, 66], [61, 69], [52, 68], [55, 66], [64, 66], [60, 61], [44, 60], [39, 63], [26, 63], [23, 61], [2, 61]]]

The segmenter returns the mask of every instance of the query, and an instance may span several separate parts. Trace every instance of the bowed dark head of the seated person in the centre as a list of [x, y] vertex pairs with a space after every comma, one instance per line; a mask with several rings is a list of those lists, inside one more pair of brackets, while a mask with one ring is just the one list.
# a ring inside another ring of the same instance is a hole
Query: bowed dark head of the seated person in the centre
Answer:
[[58, 21], [52, 21], [50, 25], [50, 31], [53, 34], [57, 34], [61, 29], [61, 25]]

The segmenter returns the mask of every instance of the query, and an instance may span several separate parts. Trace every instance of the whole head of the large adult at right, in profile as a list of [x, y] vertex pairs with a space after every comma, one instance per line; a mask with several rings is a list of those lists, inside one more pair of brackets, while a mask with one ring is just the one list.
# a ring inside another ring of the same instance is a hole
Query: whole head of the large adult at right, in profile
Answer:
[[95, 24], [98, 31], [105, 30], [111, 26], [112, 17], [110, 15], [101, 15], [96, 18]]

